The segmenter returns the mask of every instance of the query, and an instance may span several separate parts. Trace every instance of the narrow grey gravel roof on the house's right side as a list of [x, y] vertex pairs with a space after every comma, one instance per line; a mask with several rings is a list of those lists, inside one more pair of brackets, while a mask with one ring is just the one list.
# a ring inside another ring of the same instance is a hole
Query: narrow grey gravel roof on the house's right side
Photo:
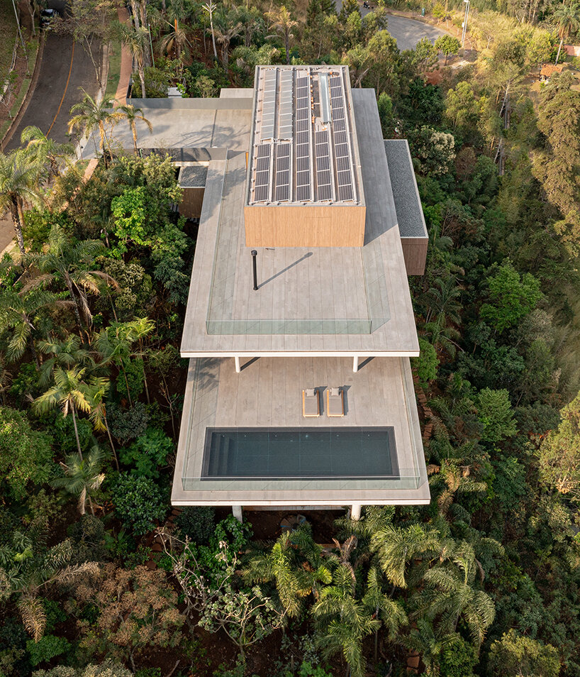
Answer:
[[405, 139], [385, 139], [384, 149], [393, 187], [399, 233], [402, 238], [426, 238], [427, 226], [408, 143]]

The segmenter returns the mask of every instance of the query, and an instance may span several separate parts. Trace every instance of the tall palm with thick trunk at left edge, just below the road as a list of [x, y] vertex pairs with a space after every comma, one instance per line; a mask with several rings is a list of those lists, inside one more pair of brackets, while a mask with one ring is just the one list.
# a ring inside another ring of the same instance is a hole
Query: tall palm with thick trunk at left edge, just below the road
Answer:
[[25, 254], [22, 229], [25, 203], [40, 206], [43, 197], [39, 189], [43, 163], [38, 158], [18, 148], [12, 153], [0, 153], [0, 212], [10, 209], [18, 248]]

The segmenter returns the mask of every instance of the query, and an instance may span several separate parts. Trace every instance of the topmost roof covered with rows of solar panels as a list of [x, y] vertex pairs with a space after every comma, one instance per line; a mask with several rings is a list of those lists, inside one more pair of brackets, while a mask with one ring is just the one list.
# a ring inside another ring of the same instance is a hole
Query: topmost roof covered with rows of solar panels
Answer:
[[[352, 121], [345, 81], [337, 71], [260, 67], [252, 202], [357, 199]], [[324, 120], [319, 109], [325, 111]]]

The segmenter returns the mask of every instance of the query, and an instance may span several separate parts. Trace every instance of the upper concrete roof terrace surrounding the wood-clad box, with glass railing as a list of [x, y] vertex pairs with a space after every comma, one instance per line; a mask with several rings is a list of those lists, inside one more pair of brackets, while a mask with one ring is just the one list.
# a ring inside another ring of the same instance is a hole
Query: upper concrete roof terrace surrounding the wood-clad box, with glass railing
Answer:
[[208, 166], [183, 356], [418, 355], [374, 90], [352, 90], [352, 103], [364, 158], [364, 247], [260, 249], [261, 287], [252, 289], [242, 210], [248, 123], [245, 136], [235, 135], [240, 152]]

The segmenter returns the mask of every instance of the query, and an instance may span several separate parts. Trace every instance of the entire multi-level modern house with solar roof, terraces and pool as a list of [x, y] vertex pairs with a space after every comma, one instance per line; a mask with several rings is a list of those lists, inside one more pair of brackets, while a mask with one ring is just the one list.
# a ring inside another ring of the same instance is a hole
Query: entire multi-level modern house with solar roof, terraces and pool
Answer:
[[172, 503], [428, 503], [407, 280], [428, 237], [374, 90], [345, 66], [260, 66], [219, 99], [133, 103], [200, 220]]

